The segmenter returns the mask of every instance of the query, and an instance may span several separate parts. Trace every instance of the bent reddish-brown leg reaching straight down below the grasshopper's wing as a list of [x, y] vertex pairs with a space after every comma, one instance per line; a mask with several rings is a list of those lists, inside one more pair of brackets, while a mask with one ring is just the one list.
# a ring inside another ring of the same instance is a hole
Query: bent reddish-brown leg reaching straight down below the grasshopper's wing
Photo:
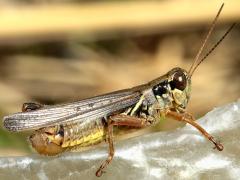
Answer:
[[96, 176], [100, 177], [104, 171], [103, 169], [112, 161], [114, 156], [114, 146], [113, 146], [113, 126], [129, 126], [134, 128], [143, 128], [148, 125], [148, 121], [144, 118], [137, 118], [133, 116], [128, 116], [124, 114], [118, 114], [110, 116], [107, 119], [107, 142], [108, 142], [108, 157], [101, 164], [96, 172]]

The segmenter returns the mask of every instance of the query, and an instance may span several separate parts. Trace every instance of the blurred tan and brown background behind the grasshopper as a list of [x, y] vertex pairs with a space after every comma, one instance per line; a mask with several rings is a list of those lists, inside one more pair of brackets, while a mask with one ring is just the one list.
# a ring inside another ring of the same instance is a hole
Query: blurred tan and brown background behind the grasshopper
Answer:
[[[224, 2], [207, 48], [240, 21], [240, 2]], [[71, 102], [188, 69], [221, 3], [1, 0], [1, 119], [24, 102]], [[189, 112], [200, 117], [239, 98], [239, 52], [238, 25], [194, 74]], [[1, 156], [29, 152], [26, 134], [0, 130]]]

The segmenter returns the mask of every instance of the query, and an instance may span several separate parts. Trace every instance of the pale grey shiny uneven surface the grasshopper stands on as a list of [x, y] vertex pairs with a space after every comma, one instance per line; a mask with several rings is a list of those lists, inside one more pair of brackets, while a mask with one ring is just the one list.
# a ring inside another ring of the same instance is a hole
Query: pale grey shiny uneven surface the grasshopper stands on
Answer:
[[116, 143], [116, 155], [101, 178], [95, 171], [106, 145], [59, 157], [0, 158], [0, 179], [238, 179], [240, 177], [240, 101], [216, 108], [198, 122], [221, 139], [224, 150], [189, 125]]

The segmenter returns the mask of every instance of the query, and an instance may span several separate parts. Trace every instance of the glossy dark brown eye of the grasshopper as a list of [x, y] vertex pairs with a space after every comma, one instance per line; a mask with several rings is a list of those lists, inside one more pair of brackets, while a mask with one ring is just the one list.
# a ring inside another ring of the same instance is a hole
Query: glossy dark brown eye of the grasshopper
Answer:
[[186, 75], [183, 72], [176, 72], [173, 75], [173, 80], [170, 81], [170, 86], [171, 86], [172, 90], [177, 88], [177, 89], [183, 91], [187, 86]]

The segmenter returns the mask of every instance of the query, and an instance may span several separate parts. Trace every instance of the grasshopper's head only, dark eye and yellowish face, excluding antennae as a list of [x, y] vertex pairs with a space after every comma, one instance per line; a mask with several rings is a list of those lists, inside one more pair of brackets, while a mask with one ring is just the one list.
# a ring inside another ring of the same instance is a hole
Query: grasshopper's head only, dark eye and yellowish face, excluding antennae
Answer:
[[168, 84], [173, 104], [179, 111], [184, 111], [191, 93], [191, 78], [187, 71], [181, 68], [174, 68], [168, 72]]

